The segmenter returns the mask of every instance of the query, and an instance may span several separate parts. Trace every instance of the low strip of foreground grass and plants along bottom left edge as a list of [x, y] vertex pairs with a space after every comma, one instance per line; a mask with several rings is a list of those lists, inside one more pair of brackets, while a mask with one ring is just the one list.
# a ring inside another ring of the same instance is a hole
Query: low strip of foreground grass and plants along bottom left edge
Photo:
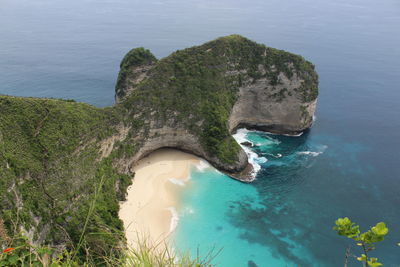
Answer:
[[[34, 246], [24, 236], [13, 238], [9, 245], [0, 250], [0, 267], [211, 267], [220, 252], [211, 250], [204, 257], [191, 257], [189, 254], [175, 253], [166, 242], [153, 244], [144, 238], [135, 248], [121, 248], [119, 257], [114, 256], [115, 253], [108, 253], [109, 256], [101, 259], [94, 259], [91, 255], [81, 259], [75, 257], [76, 251]], [[84, 243], [82, 247], [86, 249]]]

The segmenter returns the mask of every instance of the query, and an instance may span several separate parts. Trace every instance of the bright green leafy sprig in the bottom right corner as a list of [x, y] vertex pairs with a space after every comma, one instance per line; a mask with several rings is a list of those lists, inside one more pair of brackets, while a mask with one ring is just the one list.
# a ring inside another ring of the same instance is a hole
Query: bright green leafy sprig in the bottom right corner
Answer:
[[[335, 224], [333, 230], [338, 235], [351, 238], [357, 243], [357, 246], [362, 247], [364, 253], [357, 257], [358, 261], [361, 261], [365, 267], [378, 267], [382, 265], [382, 263], [378, 262], [377, 258], [370, 257], [368, 254], [376, 248], [375, 244], [383, 241], [388, 234], [389, 229], [384, 222], [377, 223], [364, 233], [360, 232], [359, 225], [356, 225], [347, 217], [337, 219]], [[349, 250], [346, 253], [345, 266], [347, 266], [348, 256]]]

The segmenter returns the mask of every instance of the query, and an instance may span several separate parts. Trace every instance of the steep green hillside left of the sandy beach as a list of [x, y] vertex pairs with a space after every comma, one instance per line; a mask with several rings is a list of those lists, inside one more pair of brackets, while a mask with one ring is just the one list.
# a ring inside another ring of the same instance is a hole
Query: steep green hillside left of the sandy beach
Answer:
[[115, 246], [118, 200], [131, 177], [112, 167], [112, 156], [101, 159], [100, 141], [116, 132], [114, 110], [0, 96], [0, 114], [0, 218], [9, 235], [23, 230], [37, 244], [73, 246], [102, 184], [86, 242], [98, 253]]

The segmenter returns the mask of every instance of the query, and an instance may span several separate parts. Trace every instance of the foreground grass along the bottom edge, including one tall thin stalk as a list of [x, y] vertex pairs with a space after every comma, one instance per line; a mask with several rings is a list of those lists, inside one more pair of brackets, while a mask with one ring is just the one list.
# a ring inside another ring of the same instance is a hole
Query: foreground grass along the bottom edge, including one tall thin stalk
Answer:
[[[3, 238], [0, 247], [4, 247], [0, 253], [0, 266], [44, 266], [44, 267], [78, 267], [78, 266], [123, 266], [123, 267], [205, 267], [212, 266], [212, 261], [220, 251], [214, 253], [211, 250], [206, 256], [194, 259], [189, 254], [178, 255], [170, 249], [167, 241], [158, 243], [150, 242], [145, 236], [137, 234], [137, 244], [132, 247], [115, 246], [110, 251], [104, 251], [99, 256], [92, 254], [92, 248], [88, 246], [87, 234], [89, 222], [95, 215], [96, 205], [98, 205], [98, 196], [104, 184], [102, 177], [98, 184], [94, 198], [92, 199], [89, 211], [86, 215], [79, 242], [73, 249], [56, 249], [49, 246], [32, 245], [28, 238], [23, 234], [13, 238]], [[0, 234], [4, 233], [3, 221], [0, 221]], [[119, 231], [114, 235], [123, 236]], [[120, 238], [116, 238], [120, 239]], [[83, 255], [81, 250], [86, 251]], [[117, 252], [117, 253], [116, 253]], [[77, 256], [80, 257], [77, 257]]]

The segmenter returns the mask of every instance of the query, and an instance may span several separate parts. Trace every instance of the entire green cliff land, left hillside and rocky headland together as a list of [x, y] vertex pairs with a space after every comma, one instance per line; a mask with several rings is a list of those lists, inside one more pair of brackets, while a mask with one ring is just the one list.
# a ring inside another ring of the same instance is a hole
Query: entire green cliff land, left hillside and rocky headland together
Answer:
[[232, 35], [161, 60], [133, 49], [114, 107], [1, 96], [0, 216], [9, 235], [70, 247], [83, 237], [82, 256], [118, 253], [118, 200], [135, 161], [175, 147], [241, 179], [247, 156], [231, 132], [303, 131], [317, 94], [314, 66], [301, 56]]

